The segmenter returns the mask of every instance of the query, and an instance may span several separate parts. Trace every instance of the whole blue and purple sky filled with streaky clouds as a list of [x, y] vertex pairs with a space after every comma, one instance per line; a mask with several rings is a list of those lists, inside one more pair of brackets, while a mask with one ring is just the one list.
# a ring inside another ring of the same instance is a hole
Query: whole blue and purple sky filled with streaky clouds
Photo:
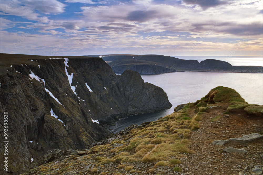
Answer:
[[1, 0], [0, 52], [262, 56], [259, 0]]

